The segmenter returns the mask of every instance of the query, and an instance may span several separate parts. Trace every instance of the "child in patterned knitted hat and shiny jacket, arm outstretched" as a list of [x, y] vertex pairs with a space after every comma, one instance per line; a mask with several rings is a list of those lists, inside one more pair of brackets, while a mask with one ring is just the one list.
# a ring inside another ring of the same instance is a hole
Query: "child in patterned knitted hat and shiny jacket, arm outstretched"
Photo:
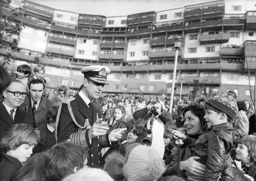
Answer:
[[[205, 102], [207, 126], [210, 128], [190, 144], [192, 156], [200, 157], [199, 162], [206, 165], [203, 178], [197, 180], [218, 180], [225, 166], [233, 145], [233, 124], [238, 111], [236, 100], [229, 93], [218, 94]], [[189, 139], [177, 131], [174, 135], [184, 140]], [[191, 140], [191, 139], [190, 139]]]

